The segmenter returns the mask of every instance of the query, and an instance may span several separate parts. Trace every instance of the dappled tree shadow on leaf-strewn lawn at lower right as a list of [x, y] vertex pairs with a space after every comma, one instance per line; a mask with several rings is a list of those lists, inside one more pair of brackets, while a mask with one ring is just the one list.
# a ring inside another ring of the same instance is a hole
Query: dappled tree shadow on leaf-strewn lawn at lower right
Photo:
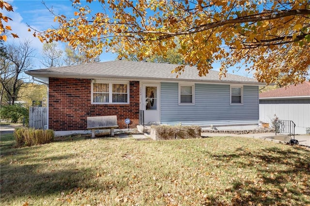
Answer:
[[[256, 168], [255, 179], [238, 179], [232, 187], [222, 191], [233, 194], [232, 205], [280, 205], [289, 206], [294, 200], [298, 205], [310, 204], [310, 152], [302, 147], [280, 149], [271, 147], [250, 151], [238, 148], [231, 154], [211, 155], [217, 161], [238, 165], [240, 168]], [[247, 161], [245, 161], [247, 160]], [[305, 197], [306, 195], [308, 197]], [[214, 196], [207, 198], [215, 200]], [[222, 203], [212, 201], [212, 205]]]

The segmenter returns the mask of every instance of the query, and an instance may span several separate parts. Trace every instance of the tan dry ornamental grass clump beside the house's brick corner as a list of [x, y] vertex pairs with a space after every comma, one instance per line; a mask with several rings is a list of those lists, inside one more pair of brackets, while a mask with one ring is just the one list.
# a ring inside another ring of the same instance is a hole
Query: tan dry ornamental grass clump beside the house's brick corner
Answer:
[[49, 143], [54, 139], [54, 131], [19, 127], [14, 131], [14, 138], [17, 147], [42, 145]]

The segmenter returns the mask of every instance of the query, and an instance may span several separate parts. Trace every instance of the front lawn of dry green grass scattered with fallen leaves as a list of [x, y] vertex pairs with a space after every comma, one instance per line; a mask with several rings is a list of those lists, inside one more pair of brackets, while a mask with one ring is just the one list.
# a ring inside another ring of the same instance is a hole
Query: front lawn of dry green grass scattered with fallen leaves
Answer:
[[310, 205], [310, 151], [250, 138], [1, 135], [1, 205]]

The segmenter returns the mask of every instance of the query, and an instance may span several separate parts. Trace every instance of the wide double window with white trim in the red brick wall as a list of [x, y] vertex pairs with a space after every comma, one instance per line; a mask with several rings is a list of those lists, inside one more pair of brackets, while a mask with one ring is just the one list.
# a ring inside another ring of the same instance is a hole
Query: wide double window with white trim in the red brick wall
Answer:
[[129, 83], [93, 81], [92, 103], [129, 103]]

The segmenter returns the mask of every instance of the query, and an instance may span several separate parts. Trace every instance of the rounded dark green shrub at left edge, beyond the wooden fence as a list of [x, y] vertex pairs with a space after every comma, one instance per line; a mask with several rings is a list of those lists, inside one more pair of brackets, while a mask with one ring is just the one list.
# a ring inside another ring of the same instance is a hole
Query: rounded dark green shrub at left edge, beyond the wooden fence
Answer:
[[26, 122], [29, 120], [29, 111], [21, 104], [13, 104], [1, 106], [0, 115], [3, 119], [11, 119], [12, 122], [16, 123], [18, 120], [25, 118]]

